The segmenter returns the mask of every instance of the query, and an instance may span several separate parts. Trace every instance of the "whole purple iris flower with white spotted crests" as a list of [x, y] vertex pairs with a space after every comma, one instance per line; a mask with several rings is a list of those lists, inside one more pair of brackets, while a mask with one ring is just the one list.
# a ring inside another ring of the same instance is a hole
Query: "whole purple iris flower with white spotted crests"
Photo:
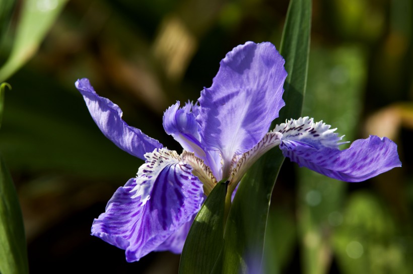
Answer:
[[76, 87], [105, 136], [146, 161], [94, 220], [92, 235], [125, 249], [127, 261], [151, 251], [180, 253], [204, 194], [225, 179], [231, 195], [248, 168], [275, 146], [300, 166], [349, 182], [401, 166], [391, 140], [370, 136], [340, 151], [342, 137], [335, 129], [308, 117], [268, 132], [285, 105], [286, 77], [284, 59], [271, 43], [235, 47], [198, 102], [183, 107], [177, 102], [165, 111], [164, 129], [181, 144], [181, 155], [127, 125], [116, 104], [98, 96], [88, 79], [78, 80]]

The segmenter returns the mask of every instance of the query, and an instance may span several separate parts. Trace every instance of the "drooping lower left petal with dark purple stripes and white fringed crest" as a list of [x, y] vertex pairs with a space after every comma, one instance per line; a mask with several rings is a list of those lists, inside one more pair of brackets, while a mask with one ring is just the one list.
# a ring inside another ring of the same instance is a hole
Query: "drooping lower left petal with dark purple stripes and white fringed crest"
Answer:
[[[199, 211], [203, 200], [202, 183], [191, 174], [190, 166], [179, 161], [176, 152], [161, 149], [146, 157], [147, 172], [142, 175], [146, 179], [130, 179], [119, 187], [106, 212], [92, 225], [92, 235], [125, 249], [129, 262], [154, 250], [179, 252], [182, 239], [176, 238], [183, 237], [190, 226], [187, 223]], [[151, 170], [151, 166], [160, 170]], [[152, 184], [143, 191], [150, 189], [149, 197], [133, 197], [140, 191], [136, 182]]]

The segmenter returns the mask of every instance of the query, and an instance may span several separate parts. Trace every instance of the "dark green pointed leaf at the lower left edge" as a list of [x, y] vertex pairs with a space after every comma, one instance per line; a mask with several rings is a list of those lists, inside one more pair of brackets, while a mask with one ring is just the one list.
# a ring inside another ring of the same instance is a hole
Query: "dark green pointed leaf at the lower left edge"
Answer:
[[26, 236], [12, 178], [0, 158], [0, 272], [29, 272]]

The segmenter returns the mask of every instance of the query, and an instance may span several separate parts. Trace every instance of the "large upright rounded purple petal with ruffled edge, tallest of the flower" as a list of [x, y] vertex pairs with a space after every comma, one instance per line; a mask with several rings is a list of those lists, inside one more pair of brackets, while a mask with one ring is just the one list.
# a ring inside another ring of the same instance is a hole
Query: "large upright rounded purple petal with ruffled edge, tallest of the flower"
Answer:
[[274, 45], [247, 42], [227, 53], [211, 88], [199, 98], [202, 143], [218, 150], [224, 169], [234, 154], [254, 147], [285, 105], [284, 59]]

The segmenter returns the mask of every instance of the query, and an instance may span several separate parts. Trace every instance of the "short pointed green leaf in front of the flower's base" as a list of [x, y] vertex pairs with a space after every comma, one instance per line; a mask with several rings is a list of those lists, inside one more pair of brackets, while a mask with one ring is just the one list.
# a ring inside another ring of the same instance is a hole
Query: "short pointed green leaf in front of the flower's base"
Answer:
[[227, 185], [219, 182], [211, 191], [186, 237], [179, 273], [211, 273], [223, 245]]

